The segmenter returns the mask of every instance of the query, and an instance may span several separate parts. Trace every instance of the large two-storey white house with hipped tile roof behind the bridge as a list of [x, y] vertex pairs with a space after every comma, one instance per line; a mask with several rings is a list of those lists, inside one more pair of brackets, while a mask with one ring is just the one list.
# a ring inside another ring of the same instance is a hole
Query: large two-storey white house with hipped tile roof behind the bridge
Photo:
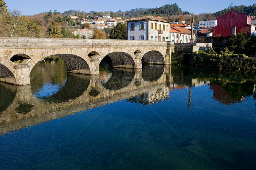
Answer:
[[170, 22], [153, 16], [143, 16], [127, 22], [127, 39], [170, 41]]

